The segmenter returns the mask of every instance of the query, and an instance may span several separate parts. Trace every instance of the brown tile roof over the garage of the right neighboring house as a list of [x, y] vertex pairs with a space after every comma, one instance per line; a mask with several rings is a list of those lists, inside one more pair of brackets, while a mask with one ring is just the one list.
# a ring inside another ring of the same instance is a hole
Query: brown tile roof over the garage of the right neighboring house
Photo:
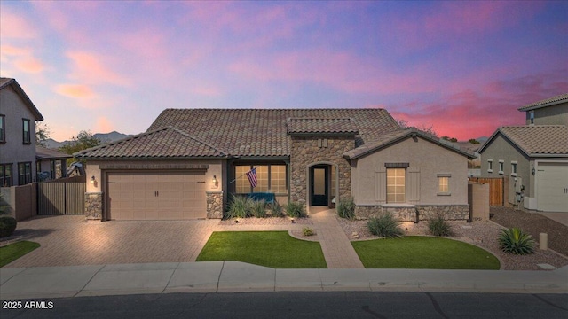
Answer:
[[568, 128], [565, 125], [501, 127], [489, 137], [478, 152], [484, 152], [487, 146], [500, 134], [530, 157], [568, 156]]

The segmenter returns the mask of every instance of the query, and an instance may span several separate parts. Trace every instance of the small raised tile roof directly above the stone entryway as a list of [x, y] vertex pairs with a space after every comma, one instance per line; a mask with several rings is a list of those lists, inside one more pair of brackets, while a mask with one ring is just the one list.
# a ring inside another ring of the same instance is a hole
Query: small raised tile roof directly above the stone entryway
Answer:
[[351, 119], [310, 119], [289, 118], [286, 121], [288, 135], [350, 135], [359, 134], [355, 121]]

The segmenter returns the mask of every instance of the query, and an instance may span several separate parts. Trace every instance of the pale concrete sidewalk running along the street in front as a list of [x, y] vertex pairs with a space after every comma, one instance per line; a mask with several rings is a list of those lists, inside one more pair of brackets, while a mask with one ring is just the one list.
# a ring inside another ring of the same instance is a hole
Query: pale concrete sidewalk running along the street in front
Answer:
[[0, 299], [169, 292], [396, 291], [567, 293], [554, 271], [273, 269], [238, 261], [0, 268]]

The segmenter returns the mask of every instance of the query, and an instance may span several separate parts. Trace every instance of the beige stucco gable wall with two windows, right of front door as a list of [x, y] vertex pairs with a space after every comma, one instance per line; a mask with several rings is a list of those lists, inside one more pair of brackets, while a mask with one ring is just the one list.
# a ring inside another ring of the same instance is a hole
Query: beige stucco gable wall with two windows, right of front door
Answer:
[[[380, 179], [386, 178], [385, 163], [409, 164], [406, 168], [408, 204], [468, 204], [468, 159], [420, 137], [409, 137], [398, 144], [351, 161], [351, 191], [356, 205], [386, 204], [386, 194], [380, 190]], [[451, 175], [450, 195], [438, 195], [438, 174]]]

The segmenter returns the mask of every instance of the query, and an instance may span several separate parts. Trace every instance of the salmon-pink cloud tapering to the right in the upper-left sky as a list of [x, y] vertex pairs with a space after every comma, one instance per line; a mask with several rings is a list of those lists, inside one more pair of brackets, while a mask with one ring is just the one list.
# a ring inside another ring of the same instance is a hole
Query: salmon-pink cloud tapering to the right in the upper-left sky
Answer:
[[129, 86], [131, 81], [113, 71], [104, 58], [85, 51], [68, 51], [67, 58], [73, 61], [70, 77], [78, 82], [91, 84], [114, 84]]

